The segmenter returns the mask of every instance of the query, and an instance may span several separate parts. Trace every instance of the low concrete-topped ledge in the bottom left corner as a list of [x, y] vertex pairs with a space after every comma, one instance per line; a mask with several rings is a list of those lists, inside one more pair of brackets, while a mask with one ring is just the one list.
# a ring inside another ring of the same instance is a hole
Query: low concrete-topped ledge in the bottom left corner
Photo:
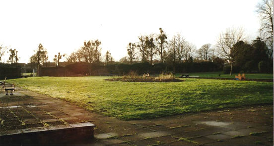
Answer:
[[0, 132], [0, 145], [53, 145], [93, 139], [94, 124], [77, 123]]

